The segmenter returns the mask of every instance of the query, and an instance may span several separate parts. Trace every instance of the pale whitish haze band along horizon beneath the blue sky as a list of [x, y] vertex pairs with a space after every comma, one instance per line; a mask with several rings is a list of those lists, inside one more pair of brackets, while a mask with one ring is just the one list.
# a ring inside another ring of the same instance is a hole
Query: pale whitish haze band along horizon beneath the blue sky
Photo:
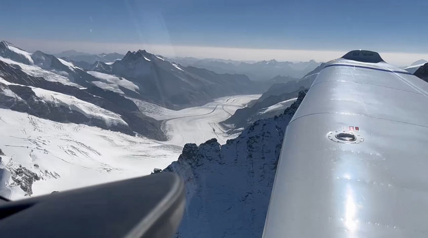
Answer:
[[[152, 54], [159, 54], [165, 57], [194, 57], [198, 59], [222, 59], [237, 61], [309, 61], [327, 62], [340, 58], [351, 50], [303, 50], [303, 49], [251, 49], [251, 48], [227, 48], [227, 47], [207, 47], [207, 46], [172, 46], [172, 45], [151, 45], [151, 44], [123, 44], [123, 43], [92, 43], [92, 42], [61, 42], [45, 41], [40, 39], [0, 39], [8, 41], [17, 47], [28, 52], [36, 50], [49, 54], [58, 54], [63, 51], [74, 50], [88, 54], [120, 53], [126, 54], [128, 51], [146, 50]], [[363, 49], [372, 50], [375, 49]], [[428, 54], [404, 53], [404, 52], [382, 52], [377, 51], [388, 63], [397, 66], [407, 66], [411, 63], [428, 58]]]

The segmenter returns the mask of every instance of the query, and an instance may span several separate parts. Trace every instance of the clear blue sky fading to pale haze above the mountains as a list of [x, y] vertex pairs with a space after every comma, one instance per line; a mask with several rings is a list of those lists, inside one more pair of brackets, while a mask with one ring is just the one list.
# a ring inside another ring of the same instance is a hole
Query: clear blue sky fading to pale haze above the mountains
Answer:
[[1, 38], [29, 50], [162, 45], [428, 53], [428, 1], [0, 2]]

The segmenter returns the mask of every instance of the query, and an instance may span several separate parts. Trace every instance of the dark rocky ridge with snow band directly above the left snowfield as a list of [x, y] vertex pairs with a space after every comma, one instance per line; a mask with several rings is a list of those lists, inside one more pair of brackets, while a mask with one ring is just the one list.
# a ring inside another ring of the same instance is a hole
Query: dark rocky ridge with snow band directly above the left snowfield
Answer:
[[[132, 100], [87, 84], [89, 88], [79, 88], [48, 81], [0, 60], [2, 107], [55, 122], [86, 124], [130, 135], [137, 132], [150, 138], [166, 139], [161, 122], [142, 114]], [[111, 116], [116, 120], [111, 121]]]

